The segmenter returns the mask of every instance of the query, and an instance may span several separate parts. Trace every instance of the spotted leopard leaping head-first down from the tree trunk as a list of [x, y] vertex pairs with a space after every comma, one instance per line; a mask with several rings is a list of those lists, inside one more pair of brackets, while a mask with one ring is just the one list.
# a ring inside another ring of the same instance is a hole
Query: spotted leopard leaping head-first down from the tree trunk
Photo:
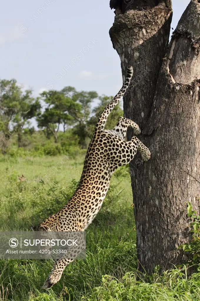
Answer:
[[[85, 231], [99, 212], [109, 188], [111, 176], [120, 166], [133, 160], [139, 150], [142, 160], [148, 161], [151, 153], [136, 136], [127, 141], [127, 129], [133, 128], [135, 135], [141, 130], [132, 120], [120, 117], [112, 130], [105, 130], [105, 123], [113, 108], [127, 91], [133, 76], [133, 67], [127, 67], [127, 76], [117, 95], [102, 111], [89, 143], [83, 165], [83, 172], [76, 191], [67, 204], [41, 224], [34, 231]], [[56, 284], [66, 267], [74, 258], [59, 258], [55, 261], [43, 288]]]

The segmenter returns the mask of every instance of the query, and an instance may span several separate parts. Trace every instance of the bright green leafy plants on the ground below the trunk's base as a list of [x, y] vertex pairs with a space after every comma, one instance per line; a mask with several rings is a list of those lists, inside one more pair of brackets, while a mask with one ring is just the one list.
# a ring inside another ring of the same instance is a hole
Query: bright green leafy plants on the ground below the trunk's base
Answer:
[[126, 273], [121, 280], [111, 275], [102, 276], [101, 286], [82, 297], [84, 301], [186, 301], [199, 300], [200, 275], [194, 274], [186, 280], [184, 269], [155, 273], [145, 277], [134, 272]]

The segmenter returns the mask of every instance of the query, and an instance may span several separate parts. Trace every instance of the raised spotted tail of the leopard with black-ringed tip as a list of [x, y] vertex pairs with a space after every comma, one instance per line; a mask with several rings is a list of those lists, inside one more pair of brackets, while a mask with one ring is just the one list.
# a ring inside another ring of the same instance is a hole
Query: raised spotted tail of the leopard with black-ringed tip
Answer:
[[96, 127], [95, 127], [95, 132], [96, 133], [103, 131], [103, 129], [105, 127], [105, 123], [106, 123], [106, 121], [108, 119], [109, 114], [111, 113], [111, 111], [113, 110], [113, 108], [118, 104], [118, 102], [120, 101], [120, 98], [127, 91], [127, 88], [128, 88], [128, 86], [130, 84], [132, 76], [133, 76], [133, 67], [132, 66], [128, 66], [127, 77], [125, 79], [125, 82], [124, 82], [122, 88], [117, 93], [117, 95], [115, 95], [115, 97], [113, 98], [113, 100], [105, 107], [105, 109], [103, 110], [103, 112], [101, 114], [101, 117], [97, 121], [97, 124], [96, 124]]

